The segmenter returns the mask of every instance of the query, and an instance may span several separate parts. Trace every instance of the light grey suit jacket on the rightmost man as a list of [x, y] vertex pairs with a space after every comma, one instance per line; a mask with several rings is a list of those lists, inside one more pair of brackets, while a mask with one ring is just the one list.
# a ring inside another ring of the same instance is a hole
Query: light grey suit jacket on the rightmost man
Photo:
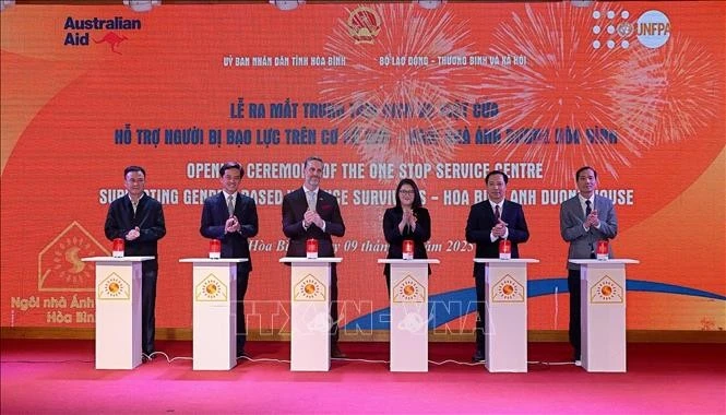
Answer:
[[[618, 235], [618, 218], [615, 215], [612, 201], [595, 194], [593, 209], [597, 210], [600, 228], [591, 226], [590, 230], [585, 230], [582, 225], [585, 222], [585, 212], [582, 210], [579, 195], [566, 200], [560, 205], [560, 234], [562, 239], [570, 242], [568, 259], [590, 259], [598, 240], [609, 240]], [[612, 245], [609, 245], [608, 248], [609, 254], [612, 257]], [[568, 269], [579, 270], [580, 265], [568, 261]]]

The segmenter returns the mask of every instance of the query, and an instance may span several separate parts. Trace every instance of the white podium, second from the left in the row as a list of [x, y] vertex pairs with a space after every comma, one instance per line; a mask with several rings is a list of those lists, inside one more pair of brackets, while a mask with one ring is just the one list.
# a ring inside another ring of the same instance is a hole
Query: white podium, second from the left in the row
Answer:
[[237, 366], [237, 263], [247, 258], [185, 258], [192, 263], [193, 370]]

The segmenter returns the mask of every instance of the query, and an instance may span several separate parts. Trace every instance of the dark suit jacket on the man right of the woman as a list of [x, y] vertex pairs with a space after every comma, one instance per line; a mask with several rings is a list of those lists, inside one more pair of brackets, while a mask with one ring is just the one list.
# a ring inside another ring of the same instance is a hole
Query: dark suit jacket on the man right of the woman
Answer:
[[[527, 221], [524, 218], [522, 205], [504, 200], [501, 220], [507, 223], [509, 235], [507, 239], [512, 242], [512, 258], [520, 258], [519, 245], [529, 239]], [[499, 238], [491, 241], [491, 229], [497, 225], [495, 211], [488, 200], [472, 205], [466, 221], [466, 241], [476, 244], [476, 258], [499, 258]], [[485, 264], [474, 264], [474, 276], [484, 277]]]

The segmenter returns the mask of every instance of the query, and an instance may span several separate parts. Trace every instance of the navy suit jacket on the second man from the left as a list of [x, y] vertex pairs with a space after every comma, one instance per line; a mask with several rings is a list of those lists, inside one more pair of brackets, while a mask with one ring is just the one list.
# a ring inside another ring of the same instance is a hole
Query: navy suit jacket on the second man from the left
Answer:
[[252, 271], [248, 238], [252, 238], [258, 234], [258, 210], [254, 200], [237, 192], [235, 216], [239, 221], [240, 229], [236, 233], [226, 234], [225, 223], [229, 218], [227, 200], [223, 192], [211, 195], [204, 200], [199, 232], [205, 238], [222, 241], [222, 258], [248, 258], [249, 261], [242, 262], [240, 266]]

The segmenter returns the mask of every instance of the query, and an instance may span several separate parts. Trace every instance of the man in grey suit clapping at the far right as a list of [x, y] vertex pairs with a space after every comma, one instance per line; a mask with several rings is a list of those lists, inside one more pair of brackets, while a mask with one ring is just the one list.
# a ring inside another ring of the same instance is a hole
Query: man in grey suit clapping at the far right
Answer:
[[[618, 235], [618, 218], [612, 201], [595, 194], [597, 171], [581, 167], [574, 175], [578, 195], [560, 205], [560, 233], [570, 242], [569, 259], [594, 259], [598, 240]], [[609, 256], [612, 257], [610, 245]], [[580, 265], [568, 261], [568, 289], [570, 290], [570, 344], [573, 359], [580, 361]]]

